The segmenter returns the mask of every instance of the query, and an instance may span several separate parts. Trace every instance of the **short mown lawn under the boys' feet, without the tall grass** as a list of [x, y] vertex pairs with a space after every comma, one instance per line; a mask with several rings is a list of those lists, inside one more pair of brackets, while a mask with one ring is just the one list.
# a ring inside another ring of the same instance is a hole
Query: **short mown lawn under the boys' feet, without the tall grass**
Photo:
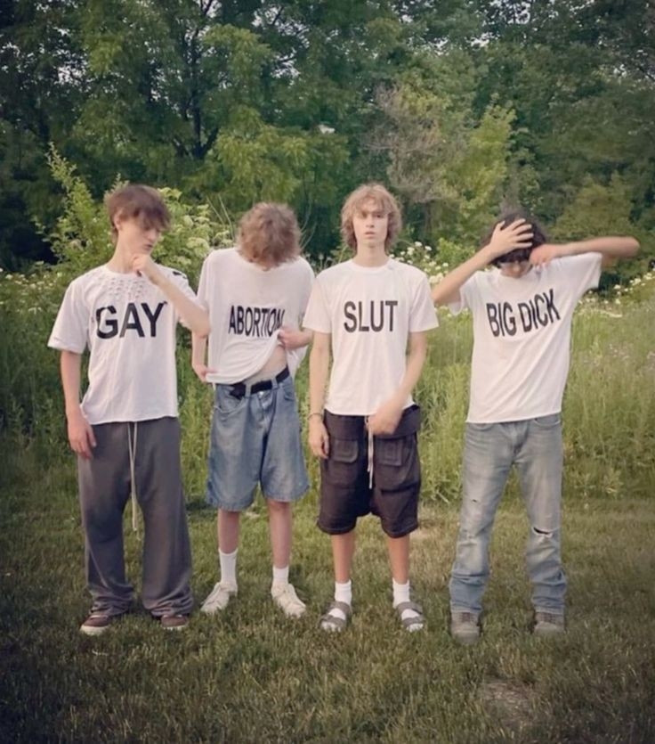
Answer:
[[[221, 617], [162, 630], [142, 612], [102, 637], [77, 631], [88, 598], [72, 463], [39, 469], [28, 447], [4, 458], [0, 492], [2, 741], [655, 740], [655, 503], [571, 499], [564, 513], [569, 630], [530, 635], [522, 568], [527, 520], [515, 488], [492, 544], [481, 642], [447, 632], [457, 511], [428, 504], [413, 541], [413, 585], [428, 628], [400, 629], [384, 543], [360, 525], [355, 614], [319, 631], [331, 593], [315, 495], [296, 511], [292, 580], [308, 603], [286, 620], [268, 595], [261, 503], [244, 518], [239, 597]], [[198, 600], [216, 579], [214, 511], [190, 503]], [[126, 527], [130, 576], [140, 539]]]

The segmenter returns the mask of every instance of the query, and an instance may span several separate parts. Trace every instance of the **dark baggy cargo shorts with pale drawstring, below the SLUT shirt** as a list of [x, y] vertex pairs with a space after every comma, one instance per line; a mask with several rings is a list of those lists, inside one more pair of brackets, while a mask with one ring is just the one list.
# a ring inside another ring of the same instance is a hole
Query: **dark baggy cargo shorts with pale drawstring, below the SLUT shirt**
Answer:
[[418, 527], [421, 490], [418, 406], [405, 409], [392, 434], [373, 437], [370, 463], [364, 416], [326, 411], [325, 425], [330, 447], [327, 460], [320, 461], [319, 528], [328, 535], [343, 535], [355, 527], [358, 517], [371, 513], [380, 518], [390, 537], [413, 532]]

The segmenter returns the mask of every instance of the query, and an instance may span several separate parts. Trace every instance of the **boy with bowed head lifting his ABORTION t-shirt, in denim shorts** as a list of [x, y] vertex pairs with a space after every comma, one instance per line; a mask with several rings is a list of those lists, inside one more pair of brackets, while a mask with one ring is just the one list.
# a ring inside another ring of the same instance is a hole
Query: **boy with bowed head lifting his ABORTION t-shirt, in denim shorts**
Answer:
[[289, 583], [292, 503], [309, 483], [293, 375], [311, 334], [299, 330], [313, 282], [300, 230], [283, 204], [260, 203], [239, 224], [236, 248], [214, 250], [198, 297], [209, 311], [206, 341], [193, 337], [193, 369], [214, 385], [207, 501], [218, 507], [220, 580], [201, 611], [225, 609], [237, 593], [239, 517], [262, 487], [269, 513], [273, 601], [287, 615], [305, 606]]

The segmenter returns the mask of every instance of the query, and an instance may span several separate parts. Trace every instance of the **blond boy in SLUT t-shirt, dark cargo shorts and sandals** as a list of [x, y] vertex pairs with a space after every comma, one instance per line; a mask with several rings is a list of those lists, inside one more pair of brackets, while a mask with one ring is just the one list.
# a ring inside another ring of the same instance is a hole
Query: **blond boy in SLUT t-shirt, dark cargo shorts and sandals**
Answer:
[[369, 512], [386, 534], [400, 622], [409, 631], [424, 625], [409, 598], [409, 535], [418, 526], [421, 480], [411, 392], [437, 319], [425, 274], [388, 256], [400, 224], [384, 186], [352, 192], [341, 229], [355, 257], [319, 274], [304, 319], [314, 331], [309, 444], [321, 465], [318, 525], [331, 536], [335, 572], [335, 599], [321, 618], [328, 631], [343, 630], [351, 615], [355, 526]]

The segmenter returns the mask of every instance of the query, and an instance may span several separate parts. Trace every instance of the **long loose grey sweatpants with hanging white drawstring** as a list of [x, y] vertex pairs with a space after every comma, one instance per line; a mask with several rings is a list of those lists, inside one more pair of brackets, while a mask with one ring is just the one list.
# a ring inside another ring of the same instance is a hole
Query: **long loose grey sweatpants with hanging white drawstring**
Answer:
[[180, 422], [166, 417], [93, 426], [93, 457], [77, 458], [85, 529], [86, 580], [93, 610], [129, 609], [133, 587], [125, 578], [123, 511], [130, 496], [130, 437], [134, 485], [144, 524], [142, 601], [155, 617], [188, 615], [191, 552], [180, 466]]

